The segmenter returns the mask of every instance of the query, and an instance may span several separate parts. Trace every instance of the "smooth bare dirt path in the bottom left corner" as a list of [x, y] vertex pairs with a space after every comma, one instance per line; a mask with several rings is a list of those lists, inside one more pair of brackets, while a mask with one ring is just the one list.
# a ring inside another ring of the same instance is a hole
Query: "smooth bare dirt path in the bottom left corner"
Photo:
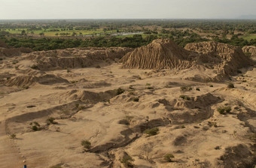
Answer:
[[5, 132], [5, 121], [0, 121], [0, 167], [23, 167], [23, 159]]

